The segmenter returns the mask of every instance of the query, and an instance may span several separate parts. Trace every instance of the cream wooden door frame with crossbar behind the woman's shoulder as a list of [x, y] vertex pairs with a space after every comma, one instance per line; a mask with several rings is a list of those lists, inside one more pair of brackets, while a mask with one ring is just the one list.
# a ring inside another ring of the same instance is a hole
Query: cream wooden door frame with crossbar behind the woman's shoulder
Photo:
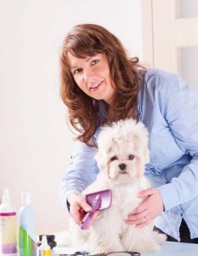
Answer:
[[[176, 0], [141, 0], [141, 3], [143, 64], [180, 74], [180, 48], [198, 45], [198, 19], [177, 18]], [[163, 12], [159, 12], [161, 9]]]

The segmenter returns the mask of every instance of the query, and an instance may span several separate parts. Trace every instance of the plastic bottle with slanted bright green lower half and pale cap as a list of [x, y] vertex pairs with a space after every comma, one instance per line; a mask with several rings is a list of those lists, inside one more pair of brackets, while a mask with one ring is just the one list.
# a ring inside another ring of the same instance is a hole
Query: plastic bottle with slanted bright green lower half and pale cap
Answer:
[[35, 226], [35, 215], [31, 207], [31, 194], [21, 193], [21, 203], [19, 211], [19, 234], [18, 234], [18, 255], [37, 255], [37, 235]]

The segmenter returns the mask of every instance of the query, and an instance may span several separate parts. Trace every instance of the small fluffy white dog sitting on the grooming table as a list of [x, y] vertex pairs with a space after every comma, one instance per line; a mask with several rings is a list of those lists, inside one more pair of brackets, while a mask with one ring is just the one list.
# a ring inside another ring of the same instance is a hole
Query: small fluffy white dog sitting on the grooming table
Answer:
[[[112, 190], [112, 205], [101, 211], [89, 230], [81, 230], [71, 219], [72, 246], [90, 253], [118, 251], [156, 251], [166, 240], [153, 231], [153, 223], [142, 229], [126, 224], [129, 212], [142, 199], [137, 194], [150, 187], [144, 178], [144, 166], [149, 162], [148, 132], [143, 123], [133, 119], [106, 126], [99, 134], [96, 154], [100, 172], [95, 182], [82, 192], [86, 195], [103, 189]], [[119, 167], [124, 164], [126, 168]]]

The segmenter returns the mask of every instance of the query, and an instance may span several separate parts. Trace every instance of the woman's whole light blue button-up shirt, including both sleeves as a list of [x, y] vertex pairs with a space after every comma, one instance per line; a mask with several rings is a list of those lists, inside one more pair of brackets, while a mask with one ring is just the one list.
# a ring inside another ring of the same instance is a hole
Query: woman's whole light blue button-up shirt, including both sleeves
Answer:
[[[184, 218], [190, 237], [198, 237], [198, 94], [177, 75], [149, 69], [139, 84], [138, 113], [150, 133], [145, 176], [160, 190], [165, 207], [155, 224], [179, 241]], [[95, 180], [96, 151], [76, 142], [59, 189], [63, 204], [67, 195], [80, 194]]]

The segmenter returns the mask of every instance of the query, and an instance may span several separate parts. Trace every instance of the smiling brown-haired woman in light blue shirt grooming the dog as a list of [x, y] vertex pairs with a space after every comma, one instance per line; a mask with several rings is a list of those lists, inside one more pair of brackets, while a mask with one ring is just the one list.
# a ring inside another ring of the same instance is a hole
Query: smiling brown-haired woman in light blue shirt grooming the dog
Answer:
[[[61, 55], [61, 96], [78, 131], [71, 164], [59, 195], [80, 224], [88, 206], [81, 192], [92, 183], [102, 125], [133, 118], [150, 133], [151, 189], [128, 215], [127, 224], [150, 224], [171, 241], [198, 243], [198, 95], [172, 73], [139, 66], [102, 26], [82, 24], [66, 36]], [[93, 216], [93, 221], [99, 212]]]

